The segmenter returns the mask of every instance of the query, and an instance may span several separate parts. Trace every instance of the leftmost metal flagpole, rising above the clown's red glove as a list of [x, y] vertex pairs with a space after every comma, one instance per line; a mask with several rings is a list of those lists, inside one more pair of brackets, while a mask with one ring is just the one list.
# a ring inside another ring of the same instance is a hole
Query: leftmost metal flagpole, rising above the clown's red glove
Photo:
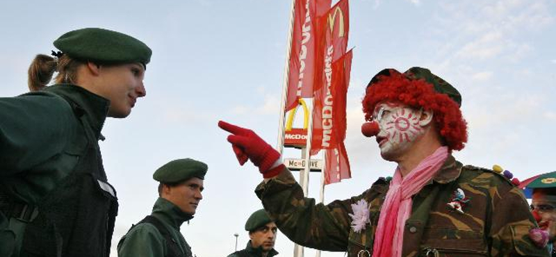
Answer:
[[291, 11], [290, 11], [290, 26], [288, 31], [288, 45], [286, 46], [286, 64], [284, 65], [284, 78], [282, 81], [282, 101], [280, 103], [280, 116], [278, 124], [278, 143], [277, 151], [282, 154], [284, 151], [284, 117], [286, 112], [284, 112], [286, 106], [286, 99], [288, 97], [288, 81], [290, 78], [290, 58], [291, 58], [291, 42], [293, 38], [293, 13], [295, 12], [295, 0], [291, 1]]

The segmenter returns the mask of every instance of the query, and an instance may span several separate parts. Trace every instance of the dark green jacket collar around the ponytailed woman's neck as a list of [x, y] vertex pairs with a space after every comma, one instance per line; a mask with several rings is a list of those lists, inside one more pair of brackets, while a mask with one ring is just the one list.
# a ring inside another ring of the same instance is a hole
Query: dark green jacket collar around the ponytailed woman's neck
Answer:
[[106, 115], [108, 115], [108, 107], [110, 106], [108, 99], [98, 94], [93, 94], [79, 85], [72, 84], [51, 85], [44, 90], [70, 100], [70, 104], [78, 106], [78, 111], [79, 109], [83, 110], [83, 115], [85, 115], [85, 119], [87, 119], [87, 122], [92, 127], [95, 138], [104, 140], [104, 136], [100, 132], [102, 126], [104, 126]]

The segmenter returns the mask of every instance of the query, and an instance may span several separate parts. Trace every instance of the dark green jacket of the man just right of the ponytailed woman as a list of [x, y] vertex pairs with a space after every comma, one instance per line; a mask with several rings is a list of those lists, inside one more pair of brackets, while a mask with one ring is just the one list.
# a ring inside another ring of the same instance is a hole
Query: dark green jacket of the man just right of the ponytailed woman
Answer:
[[[192, 219], [192, 215], [183, 213], [170, 201], [159, 197], [152, 208], [152, 216], [160, 220], [172, 235], [172, 244], [178, 244], [182, 256], [192, 257], [191, 247], [179, 232], [183, 222]], [[141, 223], [133, 226], [117, 244], [120, 257], [163, 257], [167, 256], [167, 242], [153, 224]]]

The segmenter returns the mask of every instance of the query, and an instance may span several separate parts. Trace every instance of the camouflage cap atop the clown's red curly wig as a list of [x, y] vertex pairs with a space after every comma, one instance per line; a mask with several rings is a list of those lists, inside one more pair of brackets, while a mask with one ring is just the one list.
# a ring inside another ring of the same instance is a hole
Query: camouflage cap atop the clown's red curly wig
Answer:
[[[380, 76], [390, 76], [390, 74], [393, 72], [397, 72], [398, 74], [400, 73], [396, 69], [383, 69], [375, 76], [373, 76], [373, 78], [371, 78], [368, 87], [370, 87], [374, 83], [377, 83]], [[402, 75], [404, 75], [406, 78], [409, 78], [410, 80], [425, 80], [427, 83], [434, 86], [434, 91], [448, 95], [450, 99], [454, 100], [457, 105], [461, 107], [461, 94], [459, 94], [457, 89], [450, 85], [450, 83], [444, 81], [439, 76], [432, 74], [429, 69], [425, 69], [422, 67], [411, 67]]]

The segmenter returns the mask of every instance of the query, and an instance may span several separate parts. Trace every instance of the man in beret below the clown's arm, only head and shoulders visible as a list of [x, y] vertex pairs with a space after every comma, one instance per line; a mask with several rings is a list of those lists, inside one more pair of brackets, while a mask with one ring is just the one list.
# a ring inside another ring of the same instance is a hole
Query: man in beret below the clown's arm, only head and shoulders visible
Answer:
[[278, 228], [264, 209], [257, 210], [247, 219], [245, 231], [249, 231], [251, 238], [247, 247], [228, 257], [272, 257], [278, 254], [274, 249]]

